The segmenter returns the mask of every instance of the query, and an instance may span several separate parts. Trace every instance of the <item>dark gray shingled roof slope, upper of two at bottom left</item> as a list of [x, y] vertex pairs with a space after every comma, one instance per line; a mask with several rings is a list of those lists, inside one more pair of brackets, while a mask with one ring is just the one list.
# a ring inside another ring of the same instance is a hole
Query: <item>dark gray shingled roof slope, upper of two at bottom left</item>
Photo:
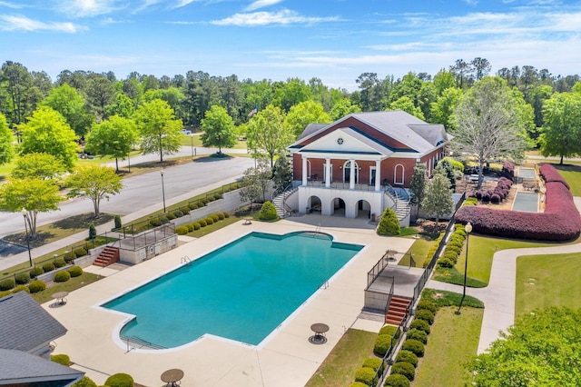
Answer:
[[66, 333], [66, 328], [26, 292], [0, 298], [0, 348], [31, 351]]

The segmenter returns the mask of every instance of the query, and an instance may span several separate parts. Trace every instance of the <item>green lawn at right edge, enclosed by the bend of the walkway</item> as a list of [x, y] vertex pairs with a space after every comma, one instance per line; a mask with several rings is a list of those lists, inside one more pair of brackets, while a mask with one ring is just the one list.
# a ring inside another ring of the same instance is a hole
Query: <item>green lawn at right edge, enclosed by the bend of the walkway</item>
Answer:
[[549, 306], [581, 308], [581, 253], [517, 258], [516, 316]]

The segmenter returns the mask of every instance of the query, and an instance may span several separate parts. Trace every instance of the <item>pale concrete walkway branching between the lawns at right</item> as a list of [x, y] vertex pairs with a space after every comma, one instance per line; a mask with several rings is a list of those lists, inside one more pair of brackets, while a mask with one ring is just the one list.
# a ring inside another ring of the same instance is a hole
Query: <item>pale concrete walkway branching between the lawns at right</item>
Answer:
[[[484, 303], [484, 316], [478, 342], [478, 353], [485, 352], [491, 342], [498, 339], [499, 332], [507, 332], [515, 323], [517, 298], [517, 258], [521, 255], [581, 253], [581, 243], [536, 247], [527, 249], [501, 250], [492, 258], [490, 281], [486, 288], [467, 288], [466, 293]], [[426, 287], [462, 293], [462, 285], [428, 281]]]

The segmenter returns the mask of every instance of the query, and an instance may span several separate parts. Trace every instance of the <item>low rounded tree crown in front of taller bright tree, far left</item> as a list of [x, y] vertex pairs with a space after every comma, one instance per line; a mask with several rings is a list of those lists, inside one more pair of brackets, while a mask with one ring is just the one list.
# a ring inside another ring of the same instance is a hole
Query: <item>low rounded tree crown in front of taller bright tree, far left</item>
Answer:
[[56, 179], [66, 172], [63, 163], [52, 154], [25, 154], [16, 160], [10, 174], [15, 179]]

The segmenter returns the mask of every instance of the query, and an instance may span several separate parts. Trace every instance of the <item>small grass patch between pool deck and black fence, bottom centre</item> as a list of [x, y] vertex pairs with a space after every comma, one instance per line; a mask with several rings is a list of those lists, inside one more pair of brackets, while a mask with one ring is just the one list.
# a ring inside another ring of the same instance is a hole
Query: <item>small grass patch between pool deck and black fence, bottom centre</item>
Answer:
[[373, 344], [377, 333], [350, 329], [335, 348], [330, 352], [327, 359], [320, 364], [319, 370], [315, 372], [307, 387], [335, 387], [348, 386], [354, 382], [355, 371], [361, 367], [363, 361], [373, 357]]

